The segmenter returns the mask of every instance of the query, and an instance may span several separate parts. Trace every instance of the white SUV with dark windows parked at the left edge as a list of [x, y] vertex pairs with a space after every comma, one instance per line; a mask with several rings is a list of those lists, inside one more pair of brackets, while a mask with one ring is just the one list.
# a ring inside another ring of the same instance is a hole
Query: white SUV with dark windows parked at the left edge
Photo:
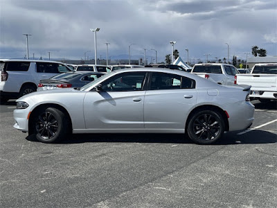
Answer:
[[37, 91], [39, 80], [72, 71], [61, 62], [46, 60], [0, 60], [0, 101]]

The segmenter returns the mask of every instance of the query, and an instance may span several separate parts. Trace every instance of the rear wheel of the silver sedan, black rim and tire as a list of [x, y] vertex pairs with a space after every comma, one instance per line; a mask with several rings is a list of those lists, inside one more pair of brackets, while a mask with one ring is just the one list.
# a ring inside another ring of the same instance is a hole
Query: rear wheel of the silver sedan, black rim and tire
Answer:
[[197, 144], [213, 144], [224, 133], [224, 120], [220, 113], [202, 110], [193, 114], [188, 123], [188, 137]]

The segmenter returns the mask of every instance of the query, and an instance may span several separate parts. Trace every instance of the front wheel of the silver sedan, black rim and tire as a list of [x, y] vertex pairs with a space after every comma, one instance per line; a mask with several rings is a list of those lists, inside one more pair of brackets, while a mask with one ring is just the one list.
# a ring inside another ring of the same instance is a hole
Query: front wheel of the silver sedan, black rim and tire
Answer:
[[53, 143], [64, 139], [69, 129], [69, 121], [65, 114], [54, 108], [48, 107], [40, 110], [34, 118], [33, 128], [37, 140], [43, 143]]

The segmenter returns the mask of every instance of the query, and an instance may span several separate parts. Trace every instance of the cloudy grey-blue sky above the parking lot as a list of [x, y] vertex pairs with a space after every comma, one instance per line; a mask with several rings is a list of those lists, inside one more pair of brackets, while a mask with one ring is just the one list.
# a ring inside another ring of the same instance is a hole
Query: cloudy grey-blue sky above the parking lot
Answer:
[[[29, 56], [80, 60], [94, 58], [154, 58], [170, 54], [170, 40], [183, 60], [245, 59], [252, 46], [277, 55], [276, 0], [0, 0], [0, 58]], [[251, 55], [249, 55], [251, 56]]]

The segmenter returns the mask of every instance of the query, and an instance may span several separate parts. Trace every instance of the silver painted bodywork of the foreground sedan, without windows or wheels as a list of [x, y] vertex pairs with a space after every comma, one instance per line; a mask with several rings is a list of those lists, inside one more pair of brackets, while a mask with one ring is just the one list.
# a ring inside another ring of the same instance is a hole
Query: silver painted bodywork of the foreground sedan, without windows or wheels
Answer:
[[94, 87], [123, 71], [107, 73], [85, 89], [34, 92], [19, 98], [29, 107], [16, 109], [14, 127], [28, 132], [28, 114], [39, 105], [60, 105], [71, 117], [73, 133], [152, 132], [184, 133], [188, 115], [196, 107], [213, 105], [229, 114], [229, 130], [243, 130], [253, 122], [253, 105], [242, 87], [217, 85], [179, 70], [139, 68], [136, 71], [174, 73], [196, 81], [195, 89], [160, 89], [134, 92], [96, 92]]

